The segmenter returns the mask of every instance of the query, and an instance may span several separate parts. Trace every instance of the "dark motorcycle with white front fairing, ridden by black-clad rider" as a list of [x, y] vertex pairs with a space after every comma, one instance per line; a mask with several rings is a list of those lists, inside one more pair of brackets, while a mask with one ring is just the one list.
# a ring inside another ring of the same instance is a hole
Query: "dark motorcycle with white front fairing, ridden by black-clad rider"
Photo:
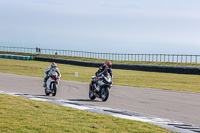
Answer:
[[112, 87], [112, 77], [108, 72], [104, 72], [98, 80], [96, 76], [92, 76], [91, 78], [92, 81], [89, 84], [89, 98], [94, 100], [98, 97], [105, 102], [109, 97], [109, 89]]

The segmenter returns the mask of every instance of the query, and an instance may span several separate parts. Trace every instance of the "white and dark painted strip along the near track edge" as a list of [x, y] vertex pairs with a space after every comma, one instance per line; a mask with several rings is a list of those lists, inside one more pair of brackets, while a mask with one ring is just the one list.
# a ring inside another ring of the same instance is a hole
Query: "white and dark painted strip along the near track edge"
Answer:
[[143, 114], [134, 113], [134, 112], [116, 110], [116, 109], [111, 109], [111, 108], [107, 108], [107, 107], [98, 107], [98, 106], [94, 106], [91, 104], [83, 104], [80, 102], [70, 101], [70, 100], [61, 100], [61, 99], [56, 99], [54, 97], [48, 97], [48, 96], [29, 95], [29, 94], [13, 93], [13, 92], [5, 92], [5, 91], [0, 91], [0, 93], [12, 95], [12, 96], [21, 96], [21, 97], [25, 97], [25, 98], [28, 98], [31, 100], [45, 101], [45, 102], [49, 102], [49, 103], [59, 104], [59, 105], [65, 106], [65, 107], [71, 107], [71, 108], [94, 112], [94, 113], [99, 113], [99, 114], [112, 115], [114, 117], [119, 117], [119, 118], [123, 118], [123, 119], [147, 122], [147, 123], [151, 123], [154, 125], [158, 125], [160, 127], [164, 127], [168, 130], [175, 131], [175, 132], [200, 133], [199, 126], [184, 124], [182, 122], [170, 121], [168, 119], [156, 118], [156, 117], [152, 117], [149, 115], [143, 115]]

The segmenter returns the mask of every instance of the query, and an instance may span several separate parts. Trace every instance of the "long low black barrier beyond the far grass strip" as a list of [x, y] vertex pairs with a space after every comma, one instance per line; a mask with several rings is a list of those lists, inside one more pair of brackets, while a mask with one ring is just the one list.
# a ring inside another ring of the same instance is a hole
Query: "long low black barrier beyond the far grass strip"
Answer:
[[[57, 58], [46, 58], [46, 57], [35, 57], [37, 61], [45, 62], [57, 62], [61, 64], [70, 64], [86, 67], [99, 67], [103, 63], [99, 62], [84, 62], [75, 60], [65, 60]], [[124, 70], [137, 70], [137, 71], [148, 71], [148, 72], [163, 72], [163, 73], [177, 73], [177, 74], [200, 74], [199, 67], [182, 67], [182, 66], [159, 66], [159, 65], [137, 65], [137, 64], [116, 64], [113, 63], [113, 69], [124, 69]]]

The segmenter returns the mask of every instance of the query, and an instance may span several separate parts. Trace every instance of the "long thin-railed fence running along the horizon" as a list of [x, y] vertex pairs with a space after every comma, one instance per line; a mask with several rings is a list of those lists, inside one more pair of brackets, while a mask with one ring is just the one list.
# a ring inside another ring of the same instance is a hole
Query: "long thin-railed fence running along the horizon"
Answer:
[[118, 61], [150, 61], [150, 62], [176, 62], [176, 63], [200, 63], [200, 55], [179, 55], [179, 54], [123, 54], [123, 53], [96, 53], [86, 51], [40, 49], [25, 47], [0, 46], [0, 51], [24, 52], [49, 55], [63, 55], [74, 57], [97, 58]]

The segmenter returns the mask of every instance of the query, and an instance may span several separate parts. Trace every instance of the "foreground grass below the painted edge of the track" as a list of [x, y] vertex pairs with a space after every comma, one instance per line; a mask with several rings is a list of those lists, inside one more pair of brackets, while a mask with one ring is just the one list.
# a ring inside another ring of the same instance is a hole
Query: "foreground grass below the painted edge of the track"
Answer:
[[148, 123], [0, 94], [0, 132], [169, 133]]

